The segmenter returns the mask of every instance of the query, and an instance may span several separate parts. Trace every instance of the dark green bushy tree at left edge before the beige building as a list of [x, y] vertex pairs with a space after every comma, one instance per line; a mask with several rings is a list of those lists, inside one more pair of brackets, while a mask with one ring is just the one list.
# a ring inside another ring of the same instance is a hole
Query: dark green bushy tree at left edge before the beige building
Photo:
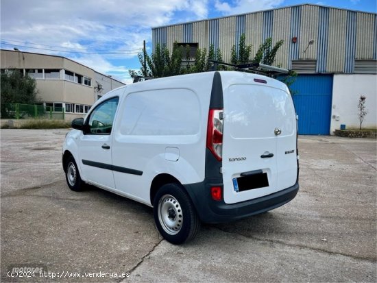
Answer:
[[40, 103], [37, 98], [36, 80], [23, 75], [20, 70], [1, 73], [1, 105], [5, 103]]

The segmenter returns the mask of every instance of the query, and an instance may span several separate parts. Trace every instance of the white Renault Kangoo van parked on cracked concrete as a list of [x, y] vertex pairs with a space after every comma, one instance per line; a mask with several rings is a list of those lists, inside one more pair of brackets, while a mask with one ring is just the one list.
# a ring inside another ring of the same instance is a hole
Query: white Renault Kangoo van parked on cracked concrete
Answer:
[[93, 184], [153, 206], [174, 244], [200, 221], [278, 208], [299, 188], [295, 108], [270, 77], [217, 71], [122, 86], [72, 127], [62, 158], [69, 188]]

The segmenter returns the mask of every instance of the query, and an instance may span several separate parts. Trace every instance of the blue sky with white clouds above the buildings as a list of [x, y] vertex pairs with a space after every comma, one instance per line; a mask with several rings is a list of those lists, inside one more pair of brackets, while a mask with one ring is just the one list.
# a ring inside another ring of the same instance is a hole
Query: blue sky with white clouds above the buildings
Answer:
[[1, 0], [0, 47], [64, 56], [130, 83], [151, 27], [303, 3], [377, 12], [376, 0]]

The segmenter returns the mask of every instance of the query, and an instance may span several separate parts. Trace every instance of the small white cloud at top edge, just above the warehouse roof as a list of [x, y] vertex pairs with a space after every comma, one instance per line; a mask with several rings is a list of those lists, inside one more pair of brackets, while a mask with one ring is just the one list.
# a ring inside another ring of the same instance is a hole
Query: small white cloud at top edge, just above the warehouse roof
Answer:
[[215, 0], [215, 9], [224, 15], [243, 14], [278, 7], [284, 0]]

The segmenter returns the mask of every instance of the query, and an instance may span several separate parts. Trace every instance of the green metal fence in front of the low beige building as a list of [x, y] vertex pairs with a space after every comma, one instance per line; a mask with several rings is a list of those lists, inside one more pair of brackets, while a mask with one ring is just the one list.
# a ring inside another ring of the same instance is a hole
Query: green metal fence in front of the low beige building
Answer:
[[56, 119], [64, 120], [65, 110], [60, 107], [21, 103], [1, 104], [1, 119]]

